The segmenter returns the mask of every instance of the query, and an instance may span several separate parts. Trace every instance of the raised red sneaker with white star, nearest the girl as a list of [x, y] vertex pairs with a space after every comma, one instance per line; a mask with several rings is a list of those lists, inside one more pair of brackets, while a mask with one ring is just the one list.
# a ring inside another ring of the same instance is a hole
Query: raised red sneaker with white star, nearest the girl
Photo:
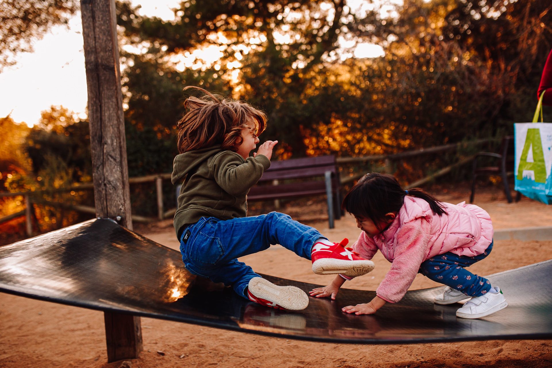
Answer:
[[343, 274], [355, 277], [373, 270], [374, 262], [360, 257], [351, 248], [344, 248], [348, 242], [348, 239], [343, 239], [341, 243], [333, 243], [333, 246], [315, 243], [311, 253], [312, 271], [319, 275]]

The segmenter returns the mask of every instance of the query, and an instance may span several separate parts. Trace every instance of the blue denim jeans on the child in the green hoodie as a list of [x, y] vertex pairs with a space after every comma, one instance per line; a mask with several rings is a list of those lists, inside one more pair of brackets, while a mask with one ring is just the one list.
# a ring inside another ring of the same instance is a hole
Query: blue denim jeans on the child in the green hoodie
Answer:
[[261, 276], [236, 258], [281, 244], [299, 257], [311, 259], [312, 245], [320, 238], [325, 237], [315, 228], [279, 212], [224, 221], [201, 217], [182, 231], [180, 252], [190, 272], [213, 282], [224, 282], [247, 298], [249, 281]]

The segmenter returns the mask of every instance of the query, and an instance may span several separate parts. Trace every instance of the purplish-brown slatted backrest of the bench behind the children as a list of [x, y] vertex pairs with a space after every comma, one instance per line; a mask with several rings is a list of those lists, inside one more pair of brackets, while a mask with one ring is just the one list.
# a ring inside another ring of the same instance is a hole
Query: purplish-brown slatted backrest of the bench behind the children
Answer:
[[273, 161], [270, 163], [270, 168], [263, 173], [259, 182], [266, 182], [274, 179], [323, 177], [324, 173], [327, 171], [337, 174], [335, 156], [305, 157], [285, 161]]

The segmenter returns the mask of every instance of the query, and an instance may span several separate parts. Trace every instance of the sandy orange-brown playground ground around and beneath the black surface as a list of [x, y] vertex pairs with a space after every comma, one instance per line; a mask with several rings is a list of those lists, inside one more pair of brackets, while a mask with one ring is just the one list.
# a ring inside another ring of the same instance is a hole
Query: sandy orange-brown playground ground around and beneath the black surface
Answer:
[[[498, 193], [498, 194], [497, 194]], [[550, 226], [552, 207], [527, 198], [507, 204], [500, 192], [478, 194], [476, 204], [487, 210], [496, 229]], [[464, 194], [440, 195], [457, 203]], [[315, 204], [314, 206], [317, 206]], [[282, 211], [296, 212], [292, 207]], [[320, 211], [323, 210], [323, 205]], [[142, 233], [178, 248], [170, 221]], [[358, 237], [350, 216], [328, 229], [310, 222], [331, 241]], [[147, 233], [146, 233], [147, 232]], [[491, 256], [470, 269], [492, 274], [552, 259], [552, 241], [497, 241]], [[312, 274], [310, 261], [281, 246], [243, 257], [253, 269], [287, 279], [325, 284], [333, 276]], [[377, 254], [375, 270], [344, 287], [375, 290], [390, 264]], [[438, 284], [418, 275], [411, 289]], [[349, 345], [312, 343], [263, 337], [178, 322], [142, 318], [144, 351], [139, 359], [107, 364], [103, 313], [0, 294], [0, 367], [551, 367], [549, 340], [490, 340], [443, 344]], [[158, 353], [162, 351], [164, 355]], [[182, 358], [181, 358], [182, 356]]]

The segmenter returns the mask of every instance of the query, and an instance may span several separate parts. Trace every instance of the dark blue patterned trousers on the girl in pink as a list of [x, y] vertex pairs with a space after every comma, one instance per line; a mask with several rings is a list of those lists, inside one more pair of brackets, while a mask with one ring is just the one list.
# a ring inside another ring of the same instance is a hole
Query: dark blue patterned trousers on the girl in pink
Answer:
[[454, 253], [443, 253], [425, 260], [420, 265], [420, 271], [427, 278], [445, 284], [453, 289], [459, 290], [468, 296], [481, 296], [491, 289], [491, 282], [481, 276], [474, 275], [464, 267], [484, 259], [491, 253], [492, 244], [485, 252], [475, 257], [458, 255]]

